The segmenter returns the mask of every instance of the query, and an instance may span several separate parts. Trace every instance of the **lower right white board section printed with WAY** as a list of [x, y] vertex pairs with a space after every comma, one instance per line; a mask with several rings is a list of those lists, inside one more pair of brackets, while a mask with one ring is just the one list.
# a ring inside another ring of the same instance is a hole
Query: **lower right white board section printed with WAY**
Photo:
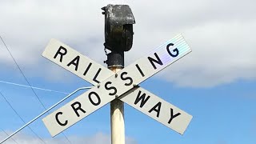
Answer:
[[142, 87], [134, 87], [134, 89], [122, 94], [119, 99], [179, 134], [184, 133], [192, 119], [190, 114], [149, 91], [143, 90]]

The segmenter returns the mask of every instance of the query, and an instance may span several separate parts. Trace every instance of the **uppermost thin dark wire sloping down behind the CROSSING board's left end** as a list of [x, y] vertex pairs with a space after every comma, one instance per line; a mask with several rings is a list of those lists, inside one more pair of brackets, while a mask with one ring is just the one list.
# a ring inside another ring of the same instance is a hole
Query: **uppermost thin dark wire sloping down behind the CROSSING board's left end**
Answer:
[[[22, 72], [22, 69], [20, 68], [20, 66], [18, 66], [18, 62], [15, 60], [13, 54], [11, 54], [9, 48], [6, 46], [6, 42], [4, 42], [4, 40], [2, 39], [2, 36], [0, 35], [0, 38], [2, 40], [2, 43], [4, 44], [4, 46], [6, 47], [6, 50], [9, 52], [11, 58], [14, 60], [14, 63], [16, 64], [16, 66], [18, 67], [18, 70], [20, 71], [20, 73], [22, 74], [23, 78], [26, 80], [27, 84], [30, 86], [31, 90], [33, 91], [34, 95], [36, 96], [36, 98], [38, 99], [38, 101], [41, 103], [42, 107], [46, 110], [46, 106], [43, 105], [42, 101], [40, 100], [40, 98], [38, 97], [38, 94], [35, 93], [33, 87], [30, 85], [30, 82], [28, 81], [28, 79], [26, 78], [25, 74]], [[65, 134], [63, 134], [64, 137], [66, 138], [66, 140], [70, 143], [70, 140], [68, 140], [68, 138], [66, 137]]]

